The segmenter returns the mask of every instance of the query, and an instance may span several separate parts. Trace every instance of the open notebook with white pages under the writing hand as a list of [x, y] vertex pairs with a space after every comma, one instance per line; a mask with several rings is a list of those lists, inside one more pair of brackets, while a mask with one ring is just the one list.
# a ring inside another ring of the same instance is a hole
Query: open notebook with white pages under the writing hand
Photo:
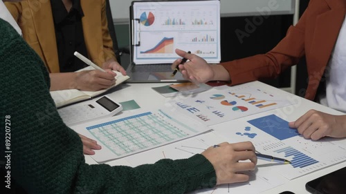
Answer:
[[[78, 70], [78, 71], [82, 71], [82, 70], [95, 70], [95, 69], [91, 66], [87, 66], [86, 68], [82, 68], [81, 70]], [[115, 77], [116, 84], [104, 90], [98, 90], [95, 92], [83, 91], [83, 90], [77, 90], [77, 89], [51, 91], [51, 97], [53, 98], [55, 102], [55, 106], [57, 106], [57, 108], [62, 108], [63, 106], [74, 104], [79, 101], [92, 99], [93, 97], [97, 97], [101, 94], [106, 93], [111, 88], [114, 88], [118, 86], [119, 84], [121, 84], [122, 82], [129, 79], [128, 75], [122, 75], [121, 72], [118, 72], [118, 71], [114, 71], [114, 72], [116, 72], [116, 77]]]

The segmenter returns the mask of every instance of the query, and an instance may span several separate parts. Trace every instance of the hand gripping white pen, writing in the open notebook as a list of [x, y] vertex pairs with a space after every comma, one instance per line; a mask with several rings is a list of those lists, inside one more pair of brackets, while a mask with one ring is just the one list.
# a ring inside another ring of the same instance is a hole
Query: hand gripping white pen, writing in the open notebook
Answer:
[[109, 88], [113, 84], [116, 84], [114, 72], [109, 73], [100, 70], [83, 70], [75, 73], [75, 83], [79, 90], [97, 91]]

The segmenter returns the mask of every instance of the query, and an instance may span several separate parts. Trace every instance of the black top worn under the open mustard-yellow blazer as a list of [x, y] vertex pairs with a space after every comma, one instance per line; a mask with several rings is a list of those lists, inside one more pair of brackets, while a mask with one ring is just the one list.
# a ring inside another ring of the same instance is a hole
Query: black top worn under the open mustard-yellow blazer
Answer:
[[72, 3], [70, 12], [67, 12], [61, 0], [51, 1], [60, 72], [73, 72], [87, 66], [73, 55], [78, 51], [88, 57], [82, 27], [84, 13], [80, 0], [72, 0]]

